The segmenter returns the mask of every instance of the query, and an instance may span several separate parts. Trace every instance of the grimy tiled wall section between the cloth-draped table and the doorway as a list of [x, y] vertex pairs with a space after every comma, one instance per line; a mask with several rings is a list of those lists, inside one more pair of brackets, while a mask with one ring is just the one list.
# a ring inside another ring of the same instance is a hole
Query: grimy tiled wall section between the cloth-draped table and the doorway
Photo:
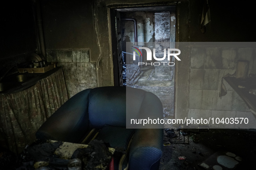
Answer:
[[90, 50], [46, 50], [47, 61], [62, 66], [71, 98], [78, 92], [97, 87], [96, 63], [90, 60]]

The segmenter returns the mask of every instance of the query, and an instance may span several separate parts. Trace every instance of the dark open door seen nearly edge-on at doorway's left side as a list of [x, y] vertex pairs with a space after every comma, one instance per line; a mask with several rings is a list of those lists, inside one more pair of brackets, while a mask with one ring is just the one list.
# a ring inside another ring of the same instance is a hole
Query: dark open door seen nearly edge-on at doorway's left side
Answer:
[[123, 60], [121, 50], [120, 13], [110, 9], [114, 85], [123, 86]]

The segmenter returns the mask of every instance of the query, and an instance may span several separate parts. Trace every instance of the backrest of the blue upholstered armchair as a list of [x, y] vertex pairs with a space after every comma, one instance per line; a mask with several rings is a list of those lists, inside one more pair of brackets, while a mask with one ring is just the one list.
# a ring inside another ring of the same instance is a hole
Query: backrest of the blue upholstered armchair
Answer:
[[[99, 129], [105, 125], [129, 127], [126, 120], [162, 119], [162, 103], [155, 94], [138, 88], [94, 88], [88, 97], [88, 114], [91, 128]], [[161, 126], [153, 125], [152, 128]]]

